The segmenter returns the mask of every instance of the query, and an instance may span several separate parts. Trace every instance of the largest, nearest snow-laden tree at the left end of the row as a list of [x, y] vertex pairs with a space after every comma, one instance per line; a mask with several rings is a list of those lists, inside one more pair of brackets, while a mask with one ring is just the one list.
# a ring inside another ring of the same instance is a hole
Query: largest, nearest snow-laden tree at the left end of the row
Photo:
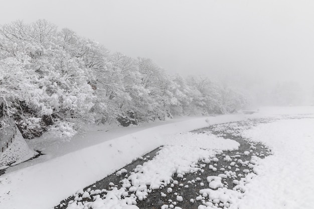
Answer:
[[24, 137], [38, 136], [48, 127], [72, 136], [78, 121], [93, 120], [90, 69], [60, 44], [54, 25], [39, 20], [2, 26], [0, 46], [4, 89], [16, 90], [14, 96], [3, 94], [2, 103], [10, 101], [5, 112]]

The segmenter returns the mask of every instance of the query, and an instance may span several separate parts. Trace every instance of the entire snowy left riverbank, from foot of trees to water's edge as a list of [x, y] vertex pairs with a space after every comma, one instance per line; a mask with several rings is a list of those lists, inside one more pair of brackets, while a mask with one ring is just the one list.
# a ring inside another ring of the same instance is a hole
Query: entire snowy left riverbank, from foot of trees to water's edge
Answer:
[[[0, 186], [0, 207], [13, 209], [51, 208], [78, 189], [114, 173], [142, 154], [165, 144], [165, 139], [173, 134], [249, 118], [303, 117], [313, 114], [313, 109], [313, 107], [286, 108], [285, 111], [280, 109], [278, 114], [276, 111], [267, 112], [260, 109], [259, 113], [252, 115], [235, 114], [185, 118], [173, 123], [161, 123], [159, 126], [149, 127], [148, 125], [145, 128], [142, 126], [141, 130], [139, 130], [141, 127], [134, 129], [130, 127], [134, 130], [130, 133], [123, 132], [122, 129], [102, 130], [89, 132], [82, 138], [78, 137], [78, 140], [73, 138], [66, 143], [54, 141], [51, 143], [54, 144], [54, 149], [47, 147], [42, 150], [45, 155], [35, 159], [36, 161], [28, 162], [33, 163], [33, 165], [21, 167], [0, 176], [2, 184]], [[289, 114], [289, 111], [292, 113]], [[86, 141], [84, 141], [85, 139]], [[92, 143], [93, 141], [96, 141], [95, 144], [90, 145], [89, 142]], [[49, 140], [42, 139], [39, 142], [37, 143], [38, 146], [41, 143], [49, 142]], [[85, 148], [82, 148], [84, 146]], [[45, 146], [42, 147], [45, 148]], [[66, 150], [68, 147], [74, 148]], [[57, 154], [54, 154], [54, 151]]]

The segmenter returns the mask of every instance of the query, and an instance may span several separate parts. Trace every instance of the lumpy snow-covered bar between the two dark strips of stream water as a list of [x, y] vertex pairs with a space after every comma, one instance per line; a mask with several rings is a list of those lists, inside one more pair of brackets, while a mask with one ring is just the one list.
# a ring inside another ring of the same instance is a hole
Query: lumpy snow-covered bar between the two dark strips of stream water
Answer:
[[[193, 145], [191, 142], [186, 144], [186, 139], [190, 139], [190, 141], [195, 139], [196, 142]], [[191, 133], [172, 136], [167, 139], [167, 143], [175, 145], [164, 146], [153, 159], [145, 162], [142, 166], [137, 166], [134, 172], [122, 180], [123, 185], [120, 189], [112, 187], [112, 190], [106, 191], [104, 198], [100, 196], [101, 191], [97, 191], [99, 195], [90, 201], [85, 201], [84, 206], [88, 205], [95, 209], [138, 208], [128, 205], [128, 203], [136, 204], [136, 199], [143, 200], [152, 189], [159, 189], [161, 186], [168, 186], [168, 193], [171, 193], [174, 174], [183, 178], [185, 173], [199, 170], [199, 167], [196, 166], [198, 161], [215, 160], [215, 155], [221, 150], [232, 150], [239, 146], [236, 141], [222, 139], [212, 134]], [[211, 149], [204, 149], [204, 145], [205, 147], [210, 146]], [[126, 170], [118, 171], [117, 175], [125, 172], [127, 173]], [[131, 194], [131, 192], [135, 192], [135, 194]], [[76, 194], [77, 200], [80, 196], [83, 197], [84, 193], [85, 196], [90, 196], [95, 191], [79, 190]], [[177, 201], [181, 201], [181, 199], [182, 196], [177, 195]], [[74, 201], [67, 206], [67, 209], [80, 209], [84, 206], [82, 206], [82, 201]]]

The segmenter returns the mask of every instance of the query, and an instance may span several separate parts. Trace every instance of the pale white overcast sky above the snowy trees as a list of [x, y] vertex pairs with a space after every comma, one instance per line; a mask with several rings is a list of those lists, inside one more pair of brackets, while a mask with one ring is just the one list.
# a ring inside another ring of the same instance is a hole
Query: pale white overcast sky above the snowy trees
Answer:
[[312, 0], [10, 0], [0, 24], [46, 19], [170, 73], [314, 79]]

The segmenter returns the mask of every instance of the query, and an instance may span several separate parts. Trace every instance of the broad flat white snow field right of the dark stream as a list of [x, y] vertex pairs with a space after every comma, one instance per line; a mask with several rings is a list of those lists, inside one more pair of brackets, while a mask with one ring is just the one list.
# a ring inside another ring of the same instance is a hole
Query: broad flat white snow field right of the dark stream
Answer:
[[314, 119], [261, 124], [243, 135], [265, 143], [274, 154], [259, 160], [258, 175], [232, 208], [314, 208]]

